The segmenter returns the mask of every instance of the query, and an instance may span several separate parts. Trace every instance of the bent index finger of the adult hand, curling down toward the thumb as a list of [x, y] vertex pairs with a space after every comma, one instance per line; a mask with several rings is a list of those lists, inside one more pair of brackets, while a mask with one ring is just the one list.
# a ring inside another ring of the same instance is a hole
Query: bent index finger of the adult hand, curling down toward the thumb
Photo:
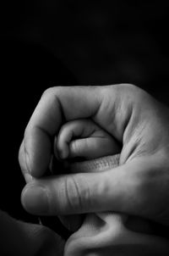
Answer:
[[25, 129], [19, 163], [24, 173], [43, 175], [52, 155], [52, 136], [57, 135], [63, 120], [94, 116], [101, 105], [99, 87], [59, 86], [43, 93]]

